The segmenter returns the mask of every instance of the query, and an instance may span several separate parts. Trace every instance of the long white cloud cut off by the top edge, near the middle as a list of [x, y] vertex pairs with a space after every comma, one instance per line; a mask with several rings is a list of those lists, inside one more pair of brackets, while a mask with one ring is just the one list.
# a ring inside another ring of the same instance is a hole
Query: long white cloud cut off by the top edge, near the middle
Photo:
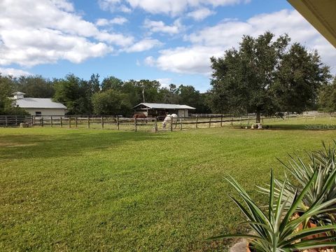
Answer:
[[123, 10], [123, 8], [141, 8], [148, 13], [167, 15], [180, 15], [189, 8], [200, 6], [228, 6], [238, 3], [246, 3], [250, 0], [99, 0], [99, 6], [103, 10]]

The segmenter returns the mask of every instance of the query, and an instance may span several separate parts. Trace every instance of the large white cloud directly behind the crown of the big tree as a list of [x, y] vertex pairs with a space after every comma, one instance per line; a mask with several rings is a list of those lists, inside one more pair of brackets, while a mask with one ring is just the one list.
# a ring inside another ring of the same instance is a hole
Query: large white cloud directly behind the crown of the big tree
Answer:
[[213, 27], [205, 27], [189, 36], [190, 46], [161, 50], [151, 64], [165, 71], [176, 73], [211, 73], [211, 56], [222, 56], [225, 50], [237, 47], [241, 37], [258, 36], [265, 31], [276, 36], [287, 33], [293, 42], [300, 42], [309, 50], [317, 49], [323, 62], [336, 68], [336, 50], [296, 10], [281, 10], [275, 13], [256, 15], [246, 22], [228, 20]]

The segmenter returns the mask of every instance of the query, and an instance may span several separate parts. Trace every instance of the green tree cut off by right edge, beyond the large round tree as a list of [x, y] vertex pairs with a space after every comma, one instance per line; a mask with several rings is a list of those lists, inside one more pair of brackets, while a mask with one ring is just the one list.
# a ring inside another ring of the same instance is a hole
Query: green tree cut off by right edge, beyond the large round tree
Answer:
[[321, 87], [318, 94], [318, 109], [327, 113], [336, 111], [336, 76], [332, 83]]

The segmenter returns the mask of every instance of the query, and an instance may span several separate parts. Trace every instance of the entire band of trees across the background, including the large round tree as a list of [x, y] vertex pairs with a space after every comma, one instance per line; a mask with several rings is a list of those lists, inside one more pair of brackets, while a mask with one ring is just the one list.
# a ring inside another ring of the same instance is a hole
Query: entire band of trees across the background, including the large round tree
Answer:
[[290, 43], [288, 35], [275, 38], [267, 31], [243, 36], [239, 48], [211, 57], [211, 88], [201, 93], [192, 85], [162, 87], [157, 80], [127, 80], [114, 76], [90, 80], [68, 74], [52, 80], [42, 76], [13, 78], [0, 75], [0, 114], [24, 113], [11, 106], [11, 92], [27, 97], [49, 97], [61, 102], [69, 114], [132, 116], [141, 102], [187, 104], [196, 113], [255, 113], [336, 111], [336, 77], [321, 62], [316, 50]]

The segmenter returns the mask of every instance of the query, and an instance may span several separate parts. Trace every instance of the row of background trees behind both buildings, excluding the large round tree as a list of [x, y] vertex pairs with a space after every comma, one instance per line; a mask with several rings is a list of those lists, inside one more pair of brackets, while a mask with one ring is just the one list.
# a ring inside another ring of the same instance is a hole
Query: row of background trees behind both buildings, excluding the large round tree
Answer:
[[84, 80], [70, 73], [64, 78], [42, 76], [0, 75], [0, 114], [24, 114], [12, 106], [9, 98], [13, 92], [25, 92], [25, 97], [52, 98], [64, 104], [69, 115], [123, 115], [132, 116], [133, 107], [141, 102], [187, 104], [196, 108], [196, 113], [209, 113], [207, 93], [195, 90], [191, 85], [162, 87], [157, 80], [127, 80], [114, 76], [99, 79], [92, 74]]

